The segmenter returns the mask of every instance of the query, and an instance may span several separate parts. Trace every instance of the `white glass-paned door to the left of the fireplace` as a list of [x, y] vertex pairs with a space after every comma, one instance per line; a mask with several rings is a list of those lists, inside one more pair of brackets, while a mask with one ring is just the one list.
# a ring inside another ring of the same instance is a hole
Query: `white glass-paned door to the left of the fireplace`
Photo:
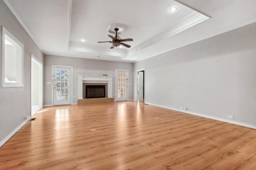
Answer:
[[54, 66], [54, 105], [71, 104], [71, 68]]

